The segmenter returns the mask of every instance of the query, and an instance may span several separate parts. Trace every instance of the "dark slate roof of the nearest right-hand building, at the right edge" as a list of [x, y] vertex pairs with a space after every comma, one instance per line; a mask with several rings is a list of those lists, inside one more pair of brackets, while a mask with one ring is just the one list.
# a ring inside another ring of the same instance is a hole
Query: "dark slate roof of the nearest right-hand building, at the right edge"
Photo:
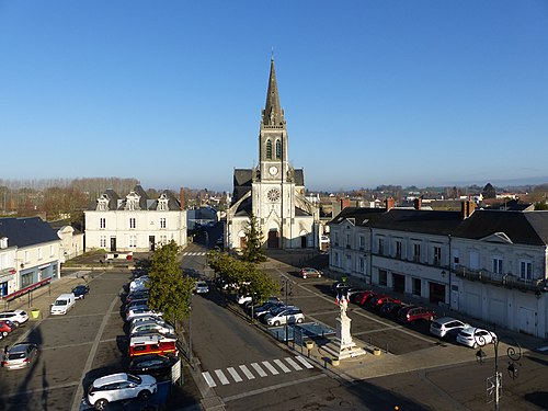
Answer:
[[455, 237], [479, 240], [496, 232], [514, 243], [548, 244], [548, 212], [504, 212], [479, 209], [454, 231]]

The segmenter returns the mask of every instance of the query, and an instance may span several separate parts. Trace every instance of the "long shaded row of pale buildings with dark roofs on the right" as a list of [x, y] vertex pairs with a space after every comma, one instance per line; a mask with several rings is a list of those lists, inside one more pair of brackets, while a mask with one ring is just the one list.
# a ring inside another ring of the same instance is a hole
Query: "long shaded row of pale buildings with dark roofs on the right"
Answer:
[[548, 212], [346, 207], [329, 222], [332, 271], [443, 310], [548, 336]]

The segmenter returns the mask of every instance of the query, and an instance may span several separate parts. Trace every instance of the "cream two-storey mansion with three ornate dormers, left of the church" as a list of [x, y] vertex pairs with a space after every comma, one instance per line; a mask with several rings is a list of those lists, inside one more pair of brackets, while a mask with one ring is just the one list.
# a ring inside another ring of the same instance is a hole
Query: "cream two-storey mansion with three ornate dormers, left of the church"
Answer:
[[174, 240], [186, 246], [184, 193], [178, 198], [170, 190], [150, 198], [140, 185], [125, 197], [106, 190], [93, 209], [84, 212], [85, 250], [109, 252], [153, 251]]

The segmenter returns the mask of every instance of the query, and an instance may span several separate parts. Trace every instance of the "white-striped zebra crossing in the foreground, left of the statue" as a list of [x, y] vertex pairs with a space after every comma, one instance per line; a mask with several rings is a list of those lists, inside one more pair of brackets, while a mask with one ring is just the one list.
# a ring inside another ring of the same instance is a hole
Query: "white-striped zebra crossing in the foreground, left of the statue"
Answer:
[[[250, 369], [251, 367], [251, 369]], [[250, 367], [248, 365], [239, 365], [238, 367], [228, 367], [225, 370], [215, 369], [214, 372], [203, 372], [202, 376], [209, 386], [209, 388], [217, 387], [217, 383], [222, 386], [229, 385], [231, 383], [242, 383], [244, 380], [255, 379], [255, 374], [260, 378], [269, 377], [271, 375], [279, 375], [281, 373], [287, 374], [292, 372], [300, 372], [305, 368], [311, 369], [313, 365], [310, 364], [307, 358], [302, 355], [296, 355], [295, 357], [276, 358], [272, 362], [263, 361], [261, 364], [251, 363]], [[238, 369], [237, 369], [238, 368]], [[253, 372], [255, 374], [253, 374]], [[214, 376], [216, 378], [214, 378]], [[230, 377], [230, 378], [229, 378]]]

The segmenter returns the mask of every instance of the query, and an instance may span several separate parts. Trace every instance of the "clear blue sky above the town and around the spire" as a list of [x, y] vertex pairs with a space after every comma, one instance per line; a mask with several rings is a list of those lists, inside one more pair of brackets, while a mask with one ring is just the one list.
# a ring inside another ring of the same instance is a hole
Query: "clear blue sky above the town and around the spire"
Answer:
[[272, 48], [310, 190], [548, 182], [544, 0], [0, 0], [0, 178], [230, 191]]

